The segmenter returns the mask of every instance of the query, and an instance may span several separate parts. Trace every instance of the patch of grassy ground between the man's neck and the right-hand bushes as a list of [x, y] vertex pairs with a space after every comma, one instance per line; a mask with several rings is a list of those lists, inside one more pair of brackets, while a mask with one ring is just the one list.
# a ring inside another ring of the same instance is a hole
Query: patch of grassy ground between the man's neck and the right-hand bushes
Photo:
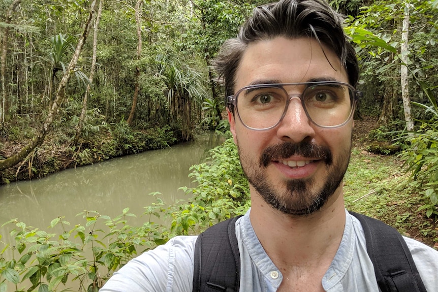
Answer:
[[438, 241], [438, 230], [434, 220], [425, 220], [421, 216], [423, 211], [418, 212], [418, 207], [427, 200], [418, 193], [420, 183], [411, 181], [397, 156], [353, 149], [343, 186], [346, 207], [383, 220], [402, 233], [414, 229], [427, 236], [428, 244], [433, 245]]

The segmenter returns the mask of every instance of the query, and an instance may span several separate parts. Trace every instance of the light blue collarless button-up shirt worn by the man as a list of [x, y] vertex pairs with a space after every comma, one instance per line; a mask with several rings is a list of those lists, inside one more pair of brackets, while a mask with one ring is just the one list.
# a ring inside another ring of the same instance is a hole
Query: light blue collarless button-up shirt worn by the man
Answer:
[[[366, 251], [362, 225], [347, 211], [342, 240], [322, 279], [327, 292], [379, 291]], [[240, 291], [273, 292], [283, 280], [260, 244], [249, 211], [236, 221], [240, 252]], [[177, 236], [132, 259], [108, 280], [100, 292], [191, 292], [197, 236]], [[438, 251], [405, 238], [428, 292], [438, 291]], [[293, 248], [293, 247], [290, 247]]]

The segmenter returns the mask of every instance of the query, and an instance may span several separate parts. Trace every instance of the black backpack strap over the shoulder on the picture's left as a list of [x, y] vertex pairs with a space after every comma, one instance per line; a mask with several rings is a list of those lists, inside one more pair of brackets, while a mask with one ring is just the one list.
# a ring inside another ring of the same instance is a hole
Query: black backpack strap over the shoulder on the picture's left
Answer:
[[239, 217], [217, 223], [199, 235], [195, 244], [193, 292], [239, 291], [240, 254], [235, 232]]

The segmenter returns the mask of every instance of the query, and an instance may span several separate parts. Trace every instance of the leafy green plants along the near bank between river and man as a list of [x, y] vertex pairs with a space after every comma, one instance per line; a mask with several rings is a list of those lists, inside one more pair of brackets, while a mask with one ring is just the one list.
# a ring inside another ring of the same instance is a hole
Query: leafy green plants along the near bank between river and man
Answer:
[[[193, 166], [191, 177], [198, 183], [183, 187], [193, 197], [165, 207], [162, 200], [145, 207], [146, 222], [134, 227], [128, 224], [135, 214], [125, 208], [115, 218], [96, 211], [78, 214], [84, 220], [71, 227], [63, 217], [50, 223], [52, 232], [26, 225], [17, 219], [8, 239], [0, 235], [0, 289], [8, 285], [14, 291], [62, 291], [79, 283], [76, 291], [102, 287], [110, 274], [126, 264], [138, 252], [156, 247], [176, 235], [200, 232], [217, 221], [242, 214], [249, 208], [248, 183], [228, 139], [210, 151], [211, 157]], [[151, 193], [155, 196], [157, 193]], [[155, 220], [170, 221], [154, 223]], [[55, 230], [60, 230], [59, 234]], [[30, 281], [30, 282], [29, 282]], [[72, 282], [73, 281], [73, 282]], [[9, 284], [8, 284], [9, 283]]]

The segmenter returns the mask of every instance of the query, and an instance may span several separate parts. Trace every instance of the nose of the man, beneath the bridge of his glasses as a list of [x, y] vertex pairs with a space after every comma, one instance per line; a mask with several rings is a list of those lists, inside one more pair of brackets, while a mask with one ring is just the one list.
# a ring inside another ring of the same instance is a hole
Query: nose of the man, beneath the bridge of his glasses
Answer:
[[286, 114], [277, 127], [277, 136], [281, 140], [299, 143], [315, 135], [312, 122], [307, 117], [301, 100], [292, 96]]

